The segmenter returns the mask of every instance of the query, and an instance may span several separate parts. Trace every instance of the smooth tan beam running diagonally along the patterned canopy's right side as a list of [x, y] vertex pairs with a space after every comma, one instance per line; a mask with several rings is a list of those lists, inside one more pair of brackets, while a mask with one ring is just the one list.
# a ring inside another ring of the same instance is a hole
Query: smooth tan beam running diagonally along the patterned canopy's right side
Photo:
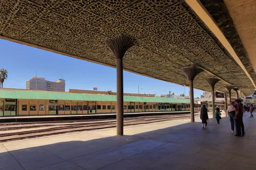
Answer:
[[204, 6], [201, 4], [199, 0], [185, 0], [187, 5], [194, 10], [194, 12], [198, 15], [198, 17], [204, 22], [204, 24], [211, 30], [212, 33], [215, 34], [215, 36], [218, 38], [218, 40], [221, 42], [221, 44], [226, 48], [228, 53], [231, 55], [231, 57], [238, 63], [238, 65], [243, 69], [247, 77], [250, 79], [251, 83], [253, 84], [254, 88], [256, 89], [256, 85], [253, 82], [249, 72], [246, 70], [245, 66], [237, 56], [236, 52], [234, 52], [232, 46], [220, 30], [220, 28], [217, 26], [216, 22], [208, 11], [204, 8]]

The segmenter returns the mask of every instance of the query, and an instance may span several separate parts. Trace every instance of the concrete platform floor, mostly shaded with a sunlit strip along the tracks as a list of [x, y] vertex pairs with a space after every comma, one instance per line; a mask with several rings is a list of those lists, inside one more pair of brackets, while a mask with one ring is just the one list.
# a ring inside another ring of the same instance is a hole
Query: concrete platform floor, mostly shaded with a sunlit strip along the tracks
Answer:
[[206, 130], [197, 118], [0, 143], [0, 169], [255, 169], [255, 119], [245, 113], [245, 137], [224, 117]]

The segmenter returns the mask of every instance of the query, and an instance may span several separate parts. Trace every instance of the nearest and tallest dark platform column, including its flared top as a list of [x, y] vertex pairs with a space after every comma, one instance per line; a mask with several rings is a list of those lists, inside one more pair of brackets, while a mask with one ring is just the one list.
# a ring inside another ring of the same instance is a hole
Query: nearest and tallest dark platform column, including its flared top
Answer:
[[131, 39], [119, 35], [105, 41], [116, 58], [117, 75], [117, 113], [116, 130], [117, 135], [123, 135], [123, 56], [125, 52], [134, 45]]

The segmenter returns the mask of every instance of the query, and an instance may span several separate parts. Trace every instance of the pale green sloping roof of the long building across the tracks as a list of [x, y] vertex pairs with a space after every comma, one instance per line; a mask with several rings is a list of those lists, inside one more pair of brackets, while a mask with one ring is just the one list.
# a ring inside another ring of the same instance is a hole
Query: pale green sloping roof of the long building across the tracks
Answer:
[[[80, 94], [69, 92], [30, 91], [0, 89], [0, 98], [5, 99], [39, 99], [39, 100], [74, 100], [74, 101], [116, 101], [116, 95], [105, 94]], [[184, 103], [189, 104], [189, 99], [123, 96], [124, 102], [155, 102], [155, 103]]]

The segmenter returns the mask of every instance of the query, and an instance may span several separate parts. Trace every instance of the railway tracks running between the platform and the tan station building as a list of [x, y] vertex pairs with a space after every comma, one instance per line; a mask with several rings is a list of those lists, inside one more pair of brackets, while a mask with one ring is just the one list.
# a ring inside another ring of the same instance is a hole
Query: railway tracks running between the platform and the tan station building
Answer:
[[[199, 113], [195, 114], [196, 116]], [[124, 118], [124, 126], [189, 118], [189, 114]], [[0, 142], [116, 127], [115, 119], [0, 124]]]

